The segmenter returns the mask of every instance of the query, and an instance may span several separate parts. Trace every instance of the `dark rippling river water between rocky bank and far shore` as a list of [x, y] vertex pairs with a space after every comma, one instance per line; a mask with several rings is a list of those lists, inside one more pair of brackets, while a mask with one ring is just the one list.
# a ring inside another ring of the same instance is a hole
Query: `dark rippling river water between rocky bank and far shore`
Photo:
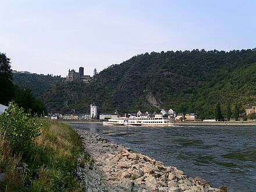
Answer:
[[137, 127], [72, 124], [228, 191], [256, 191], [255, 126]]

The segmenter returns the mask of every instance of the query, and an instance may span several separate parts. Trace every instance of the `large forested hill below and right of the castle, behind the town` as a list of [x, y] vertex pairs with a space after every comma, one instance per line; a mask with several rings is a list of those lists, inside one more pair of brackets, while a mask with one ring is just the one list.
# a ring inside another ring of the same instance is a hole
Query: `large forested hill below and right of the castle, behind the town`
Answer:
[[[155, 111], [173, 108], [214, 114], [215, 104], [241, 106], [256, 102], [256, 51], [168, 51], [134, 56], [97, 74], [90, 84], [63, 83], [44, 94], [48, 109], [88, 112]], [[241, 108], [242, 110], [242, 108]]]

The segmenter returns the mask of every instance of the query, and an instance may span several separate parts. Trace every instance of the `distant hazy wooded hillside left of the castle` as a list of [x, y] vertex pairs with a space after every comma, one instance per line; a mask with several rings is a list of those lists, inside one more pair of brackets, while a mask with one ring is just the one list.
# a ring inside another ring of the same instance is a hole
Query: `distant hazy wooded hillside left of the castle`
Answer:
[[50, 75], [13, 73], [13, 83], [20, 88], [29, 88], [34, 97], [41, 99], [41, 95], [49, 88], [61, 83], [63, 78]]

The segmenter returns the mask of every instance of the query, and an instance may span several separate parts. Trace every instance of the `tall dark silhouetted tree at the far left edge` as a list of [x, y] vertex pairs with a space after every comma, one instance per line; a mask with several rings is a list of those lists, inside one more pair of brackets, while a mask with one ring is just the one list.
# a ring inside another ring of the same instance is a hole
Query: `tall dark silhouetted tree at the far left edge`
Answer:
[[8, 105], [13, 97], [12, 69], [10, 59], [0, 52], [0, 103]]

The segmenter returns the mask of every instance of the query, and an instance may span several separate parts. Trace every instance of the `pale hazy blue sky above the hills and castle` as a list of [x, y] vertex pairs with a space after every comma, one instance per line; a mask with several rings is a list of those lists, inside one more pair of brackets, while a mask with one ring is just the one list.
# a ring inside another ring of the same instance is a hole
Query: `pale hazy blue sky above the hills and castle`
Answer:
[[93, 74], [137, 54], [256, 47], [256, 1], [0, 0], [13, 70]]

